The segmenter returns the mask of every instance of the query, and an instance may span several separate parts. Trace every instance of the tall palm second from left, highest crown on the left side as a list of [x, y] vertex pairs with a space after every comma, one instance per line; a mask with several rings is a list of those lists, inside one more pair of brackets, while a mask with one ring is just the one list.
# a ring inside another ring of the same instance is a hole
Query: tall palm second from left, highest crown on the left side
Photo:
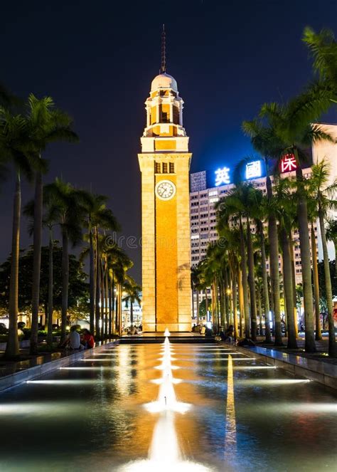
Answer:
[[[53, 99], [38, 100], [33, 94], [28, 97], [26, 116], [31, 151], [41, 159], [42, 153], [51, 142], [66, 140], [75, 142], [77, 135], [71, 130], [72, 120], [55, 109]], [[43, 179], [41, 169], [35, 174], [34, 225], [33, 225], [33, 284], [31, 313], [31, 354], [37, 354], [38, 310], [40, 306], [41, 238], [43, 216]]]

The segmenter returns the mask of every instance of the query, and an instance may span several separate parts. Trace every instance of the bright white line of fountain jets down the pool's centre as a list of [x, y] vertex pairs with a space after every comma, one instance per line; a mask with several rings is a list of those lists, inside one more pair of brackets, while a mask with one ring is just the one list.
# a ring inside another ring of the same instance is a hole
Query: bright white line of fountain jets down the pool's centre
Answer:
[[[169, 342], [170, 332], [166, 328], [164, 341], [164, 352], [159, 369], [163, 371], [161, 377], [158, 399], [145, 405], [151, 413], [159, 412], [160, 416], [154, 428], [151, 446], [149, 449], [148, 461], [137, 461], [124, 467], [124, 471], [175, 471], [175, 472], [202, 472], [209, 471], [209, 468], [201, 466], [191, 461], [183, 461], [181, 449], [178, 444], [178, 437], [174, 425], [174, 414], [185, 413], [191, 407], [190, 404], [177, 402], [176, 392], [173, 383], [177, 379], [173, 378], [171, 365], [172, 350]], [[156, 382], [157, 383], [157, 382]]]

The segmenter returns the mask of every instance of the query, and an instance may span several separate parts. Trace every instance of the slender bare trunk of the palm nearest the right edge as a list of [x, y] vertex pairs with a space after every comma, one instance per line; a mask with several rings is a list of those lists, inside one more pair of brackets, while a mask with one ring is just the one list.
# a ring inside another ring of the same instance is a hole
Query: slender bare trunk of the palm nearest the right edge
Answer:
[[326, 283], [326, 305], [328, 308], [328, 355], [336, 357], [336, 335], [335, 326], [333, 322], [333, 305], [332, 305], [332, 288], [331, 288], [331, 274], [328, 261], [328, 245], [326, 243], [326, 229], [324, 226], [323, 211], [319, 206], [319, 228], [321, 229], [321, 240], [323, 248], [323, 266]]

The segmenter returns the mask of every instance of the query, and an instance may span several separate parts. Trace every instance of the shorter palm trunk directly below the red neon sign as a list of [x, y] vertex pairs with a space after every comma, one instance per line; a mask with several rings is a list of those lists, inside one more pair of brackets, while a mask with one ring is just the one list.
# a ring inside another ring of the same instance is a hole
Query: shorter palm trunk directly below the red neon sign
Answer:
[[296, 334], [294, 327], [294, 297], [292, 293], [291, 278], [291, 258], [289, 251], [289, 239], [287, 230], [282, 226], [281, 229], [282, 257], [283, 257], [283, 273], [284, 273], [284, 298], [287, 306], [287, 328], [288, 328], [288, 349], [296, 349]]

